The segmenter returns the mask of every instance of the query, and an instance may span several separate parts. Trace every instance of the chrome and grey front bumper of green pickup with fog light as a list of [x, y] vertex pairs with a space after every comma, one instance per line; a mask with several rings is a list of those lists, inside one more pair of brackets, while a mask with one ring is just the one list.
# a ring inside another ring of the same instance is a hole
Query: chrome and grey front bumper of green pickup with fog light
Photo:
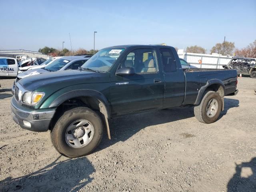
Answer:
[[35, 132], [48, 131], [55, 109], [30, 109], [17, 104], [14, 97], [11, 102], [12, 119], [21, 126]]

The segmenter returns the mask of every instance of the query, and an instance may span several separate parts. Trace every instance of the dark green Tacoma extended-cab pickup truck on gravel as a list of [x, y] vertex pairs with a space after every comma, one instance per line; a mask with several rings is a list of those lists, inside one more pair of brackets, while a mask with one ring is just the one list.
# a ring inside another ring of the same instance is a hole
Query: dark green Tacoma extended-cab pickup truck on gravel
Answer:
[[78, 70], [16, 82], [12, 117], [24, 129], [50, 130], [56, 150], [74, 158], [92, 152], [104, 128], [110, 139], [108, 120], [119, 115], [194, 106], [200, 122], [215, 122], [236, 85], [236, 70], [182, 70], [170, 46], [113, 46]]

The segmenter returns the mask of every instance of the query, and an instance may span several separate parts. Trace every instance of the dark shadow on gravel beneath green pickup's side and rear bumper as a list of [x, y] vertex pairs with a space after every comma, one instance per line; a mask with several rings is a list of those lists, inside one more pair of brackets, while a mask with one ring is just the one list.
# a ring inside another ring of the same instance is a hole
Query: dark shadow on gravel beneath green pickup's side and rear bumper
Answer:
[[[224, 111], [221, 112], [220, 118], [227, 113], [230, 108], [238, 107], [239, 100], [224, 98]], [[109, 121], [111, 140], [105, 135], [102, 142], [96, 148], [100, 151], [108, 146], [111, 146], [119, 141], [125, 141], [140, 130], [158, 124], [165, 124], [182, 119], [194, 117], [193, 107], [173, 108], [167, 110], [155, 110], [138, 114], [121, 116]], [[106, 130], [104, 130], [105, 134]]]

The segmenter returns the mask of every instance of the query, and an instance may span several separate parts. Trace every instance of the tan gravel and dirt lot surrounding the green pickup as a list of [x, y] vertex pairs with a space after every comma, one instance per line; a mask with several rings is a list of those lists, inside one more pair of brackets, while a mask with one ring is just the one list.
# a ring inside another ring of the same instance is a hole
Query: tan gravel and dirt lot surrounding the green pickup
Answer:
[[239, 78], [213, 124], [193, 108], [123, 116], [112, 140], [77, 159], [60, 156], [50, 132], [14, 123], [12, 82], [0, 80], [0, 191], [256, 191], [256, 79]]

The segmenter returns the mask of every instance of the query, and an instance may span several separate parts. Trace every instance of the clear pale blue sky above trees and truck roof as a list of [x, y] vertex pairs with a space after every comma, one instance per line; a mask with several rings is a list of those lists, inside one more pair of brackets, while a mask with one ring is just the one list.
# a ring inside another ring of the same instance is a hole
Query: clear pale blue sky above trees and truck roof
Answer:
[[256, 0], [0, 0], [0, 49], [123, 44], [237, 48], [256, 40]]

